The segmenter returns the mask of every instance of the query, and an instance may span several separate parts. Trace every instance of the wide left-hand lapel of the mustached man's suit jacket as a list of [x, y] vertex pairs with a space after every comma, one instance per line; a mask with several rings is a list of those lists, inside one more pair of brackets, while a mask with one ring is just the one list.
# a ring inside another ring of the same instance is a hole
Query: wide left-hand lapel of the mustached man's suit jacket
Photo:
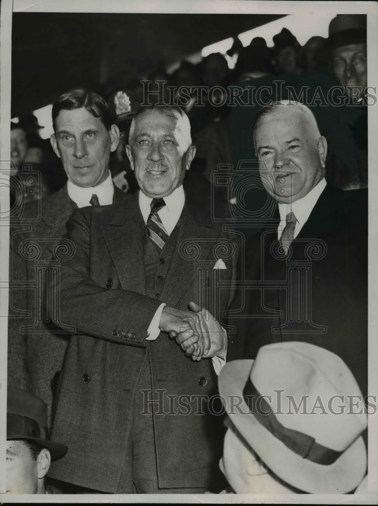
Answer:
[[137, 194], [115, 206], [110, 219], [102, 223], [102, 232], [122, 288], [143, 294], [146, 293], [145, 227]]

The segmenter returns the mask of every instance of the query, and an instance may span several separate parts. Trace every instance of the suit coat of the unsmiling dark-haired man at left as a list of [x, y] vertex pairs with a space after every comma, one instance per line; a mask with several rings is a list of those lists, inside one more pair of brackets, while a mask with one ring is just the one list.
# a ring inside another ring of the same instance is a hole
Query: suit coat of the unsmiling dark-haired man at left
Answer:
[[[114, 188], [113, 202], [126, 198]], [[10, 318], [8, 331], [8, 382], [39, 396], [48, 405], [51, 420], [54, 375], [63, 366], [67, 335], [40, 315], [44, 307], [36, 300], [36, 263], [43, 271], [43, 262], [55, 258], [54, 248], [67, 233], [67, 221], [77, 205], [70, 199], [65, 185], [57, 193], [25, 206], [22, 215], [11, 221], [10, 233]], [[27, 241], [27, 242], [24, 242]], [[30, 244], [29, 248], [22, 245]], [[22, 251], [20, 250], [22, 248]], [[34, 252], [39, 249], [38, 255]], [[16, 287], [17, 282], [22, 286]], [[40, 287], [41, 288], [41, 287]], [[40, 293], [42, 295], [42, 292]], [[21, 312], [29, 312], [29, 316]], [[13, 316], [13, 317], [12, 317]], [[21, 333], [21, 327], [29, 329]]]

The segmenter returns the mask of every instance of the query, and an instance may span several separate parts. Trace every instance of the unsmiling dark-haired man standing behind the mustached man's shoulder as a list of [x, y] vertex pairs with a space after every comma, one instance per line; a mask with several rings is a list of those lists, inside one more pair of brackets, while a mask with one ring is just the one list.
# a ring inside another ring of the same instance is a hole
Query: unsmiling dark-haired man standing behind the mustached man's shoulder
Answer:
[[51, 384], [63, 366], [69, 330], [65, 335], [45, 314], [44, 281], [39, 276], [44, 277], [47, 272], [42, 264], [64, 261], [64, 248], [69, 253], [68, 243], [61, 239], [67, 233], [67, 220], [74, 209], [109, 205], [126, 198], [113, 185], [109, 172], [110, 153], [117, 147], [119, 134], [104, 99], [90, 90], [73, 90], [58, 98], [52, 116], [51, 143], [62, 159], [68, 181], [57, 193], [25, 205], [21, 215], [11, 218], [13, 288], [8, 341], [9, 384], [43, 399], [48, 405], [49, 421]]

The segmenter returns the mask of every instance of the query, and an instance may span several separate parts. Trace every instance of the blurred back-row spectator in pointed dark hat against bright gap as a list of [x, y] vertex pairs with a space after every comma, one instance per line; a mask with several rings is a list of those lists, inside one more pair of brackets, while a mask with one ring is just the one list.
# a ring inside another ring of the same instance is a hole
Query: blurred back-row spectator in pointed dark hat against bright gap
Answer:
[[297, 38], [287, 28], [273, 36], [273, 65], [278, 74], [300, 74], [301, 46]]

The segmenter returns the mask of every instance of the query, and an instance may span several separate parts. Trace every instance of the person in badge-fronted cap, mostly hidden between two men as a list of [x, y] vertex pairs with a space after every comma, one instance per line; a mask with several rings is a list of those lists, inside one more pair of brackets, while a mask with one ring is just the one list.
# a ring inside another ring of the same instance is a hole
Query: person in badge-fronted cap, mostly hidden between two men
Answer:
[[125, 146], [128, 144], [131, 120], [140, 108], [143, 98], [130, 90], [119, 90], [108, 99], [109, 112], [114, 124], [119, 129], [117, 149], [110, 155], [110, 172], [114, 184], [122, 191], [135, 193], [139, 187], [126, 156]]

